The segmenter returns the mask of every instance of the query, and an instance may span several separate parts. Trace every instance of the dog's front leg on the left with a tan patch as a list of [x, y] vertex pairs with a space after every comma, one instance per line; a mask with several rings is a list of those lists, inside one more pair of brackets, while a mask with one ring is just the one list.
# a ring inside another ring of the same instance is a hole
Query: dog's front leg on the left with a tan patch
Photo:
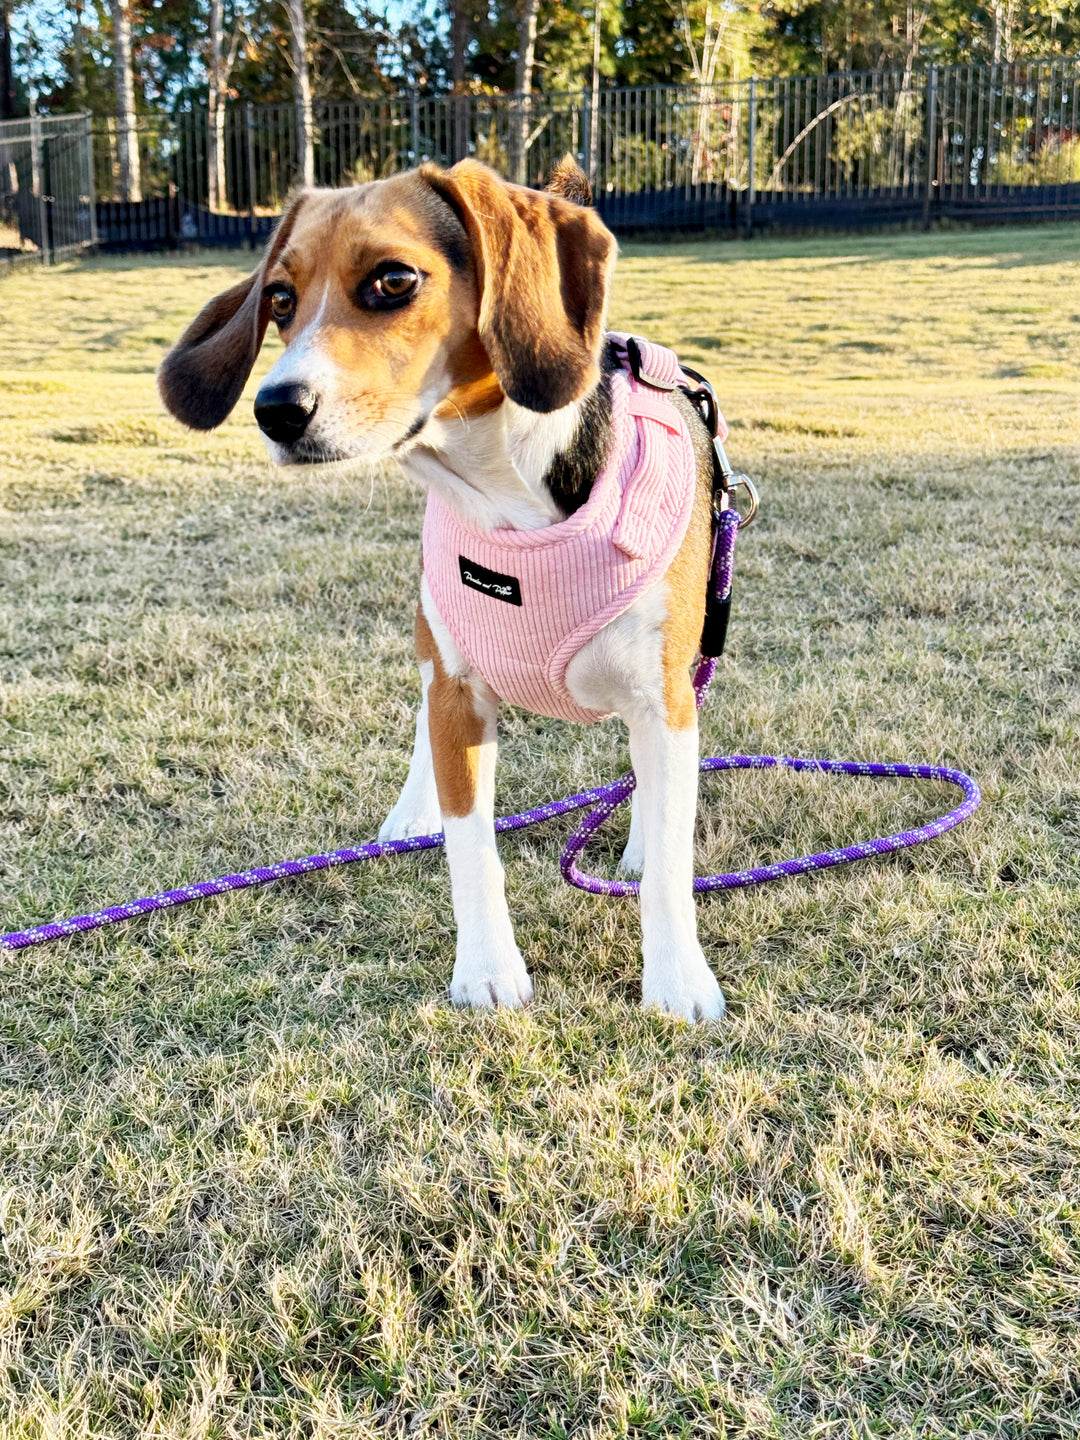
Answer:
[[498, 697], [469, 670], [428, 596], [425, 612], [416, 641], [420, 662], [432, 662], [428, 727], [458, 926], [451, 999], [524, 1005], [533, 982], [514, 939], [495, 850]]

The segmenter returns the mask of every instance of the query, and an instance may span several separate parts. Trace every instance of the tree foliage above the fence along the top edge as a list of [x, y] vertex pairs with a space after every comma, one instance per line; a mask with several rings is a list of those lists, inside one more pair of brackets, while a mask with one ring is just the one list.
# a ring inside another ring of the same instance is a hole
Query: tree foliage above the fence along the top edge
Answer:
[[[514, 85], [520, 0], [459, 0], [468, 32], [468, 86]], [[599, 0], [605, 84], [693, 81], [719, 36], [716, 79], [1074, 53], [1080, 0]], [[448, 24], [456, 0], [307, 0], [317, 99], [449, 84]], [[140, 109], [206, 94], [209, 0], [131, 0]], [[593, 7], [541, 0], [534, 86], [576, 91], [592, 75]], [[107, 0], [23, 0], [17, 60], [42, 109], [114, 105]], [[230, 75], [245, 101], [291, 99], [292, 65], [281, 0], [226, 0], [240, 39]]]

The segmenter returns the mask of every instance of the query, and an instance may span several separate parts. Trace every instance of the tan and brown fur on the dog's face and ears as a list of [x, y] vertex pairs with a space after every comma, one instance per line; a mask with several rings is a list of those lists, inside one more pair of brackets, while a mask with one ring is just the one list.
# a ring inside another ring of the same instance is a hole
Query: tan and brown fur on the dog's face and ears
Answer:
[[[467, 266], [454, 266], [441, 243], [441, 202], [469, 238]], [[323, 346], [348, 380], [343, 418], [357, 429], [402, 419], [403, 397], [420, 395], [444, 360], [454, 380], [441, 400], [449, 412], [482, 415], [504, 395], [557, 409], [596, 383], [613, 256], [590, 210], [507, 186], [475, 161], [301, 192], [258, 271], [210, 301], [173, 347], [158, 374], [161, 395], [186, 425], [220, 425], [271, 318], [264, 291], [285, 282], [298, 295], [289, 334], [302, 333], [327, 301]], [[351, 297], [383, 259], [415, 265], [425, 284], [405, 310], [364, 312]]]

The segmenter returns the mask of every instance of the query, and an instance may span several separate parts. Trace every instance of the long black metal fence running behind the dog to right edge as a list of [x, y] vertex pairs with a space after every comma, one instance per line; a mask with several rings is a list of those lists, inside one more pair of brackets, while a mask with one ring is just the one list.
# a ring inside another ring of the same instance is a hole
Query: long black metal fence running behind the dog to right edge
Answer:
[[331, 186], [467, 154], [540, 184], [569, 151], [624, 233], [1080, 216], [1080, 59], [140, 117], [138, 203], [96, 120], [102, 243], [258, 240], [305, 143]]

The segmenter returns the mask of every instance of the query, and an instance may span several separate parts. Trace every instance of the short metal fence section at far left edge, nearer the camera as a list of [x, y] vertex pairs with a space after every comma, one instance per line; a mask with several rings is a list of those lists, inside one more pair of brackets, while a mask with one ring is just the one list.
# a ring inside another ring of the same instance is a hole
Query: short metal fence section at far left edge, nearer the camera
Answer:
[[96, 240], [91, 122], [0, 122], [0, 265], [68, 259]]

